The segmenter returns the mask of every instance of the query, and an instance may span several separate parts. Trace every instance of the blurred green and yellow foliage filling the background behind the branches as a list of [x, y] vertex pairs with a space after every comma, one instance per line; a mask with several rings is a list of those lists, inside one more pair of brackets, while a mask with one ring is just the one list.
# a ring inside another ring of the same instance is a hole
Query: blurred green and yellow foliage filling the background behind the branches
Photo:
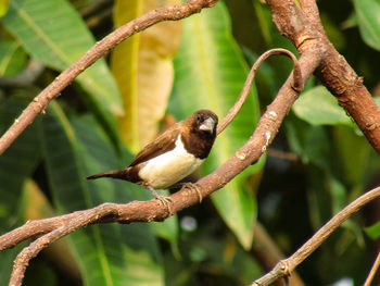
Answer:
[[[96, 39], [173, 1], [124, 2], [0, 0], [1, 133]], [[320, 0], [318, 7], [331, 42], [379, 97], [379, 1]], [[295, 51], [257, 0], [220, 1], [123, 42], [67, 87], [0, 157], [0, 232], [105, 201], [150, 199], [134, 184], [85, 177], [127, 165], [173, 117], [182, 120], [201, 108], [221, 117], [249, 66], [275, 47]], [[280, 57], [259, 69], [256, 86], [217, 138], [203, 175], [244, 144], [290, 70], [290, 61]], [[31, 261], [24, 285], [246, 285], [265, 271], [249, 251], [256, 220], [290, 254], [378, 185], [379, 170], [378, 154], [312, 77], [268, 156], [212, 199], [164, 223], [75, 232]], [[363, 283], [379, 247], [378, 204], [350, 219], [297, 269], [305, 285]], [[0, 253], [0, 285], [8, 285], [12, 261], [25, 245]]]

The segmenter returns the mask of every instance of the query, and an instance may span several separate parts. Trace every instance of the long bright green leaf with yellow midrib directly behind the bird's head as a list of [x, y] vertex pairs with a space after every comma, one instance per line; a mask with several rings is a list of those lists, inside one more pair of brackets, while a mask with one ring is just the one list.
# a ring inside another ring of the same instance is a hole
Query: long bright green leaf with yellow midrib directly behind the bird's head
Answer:
[[[175, 59], [175, 86], [169, 111], [183, 119], [199, 109], [225, 115], [239, 96], [248, 72], [246, 63], [231, 35], [229, 15], [223, 2], [183, 21], [182, 40]], [[205, 173], [227, 161], [253, 133], [258, 117], [253, 92], [233, 123], [216, 138]], [[249, 167], [252, 174], [262, 164]], [[250, 248], [256, 215], [254, 197], [240, 175], [212, 198], [221, 217], [245, 248]]]

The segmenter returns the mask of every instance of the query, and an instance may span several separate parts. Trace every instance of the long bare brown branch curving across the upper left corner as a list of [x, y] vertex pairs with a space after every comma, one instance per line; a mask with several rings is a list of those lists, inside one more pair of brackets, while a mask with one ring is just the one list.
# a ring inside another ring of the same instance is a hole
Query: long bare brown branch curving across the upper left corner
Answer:
[[64, 70], [54, 82], [46, 87], [29, 105], [23, 111], [18, 119], [0, 138], [0, 154], [31, 124], [39, 113], [43, 113], [49, 102], [59, 97], [60, 92], [67, 87], [87, 67], [93, 64], [99, 58], [106, 54], [121, 41], [129, 38], [159, 22], [176, 21], [200, 13], [203, 8], [210, 8], [217, 3], [217, 0], [189, 0], [188, 2], [155, 9], [147, 14], [121, 26], [113, 33], [98, 41], [91, 49], [81, 55], [75, 63]]

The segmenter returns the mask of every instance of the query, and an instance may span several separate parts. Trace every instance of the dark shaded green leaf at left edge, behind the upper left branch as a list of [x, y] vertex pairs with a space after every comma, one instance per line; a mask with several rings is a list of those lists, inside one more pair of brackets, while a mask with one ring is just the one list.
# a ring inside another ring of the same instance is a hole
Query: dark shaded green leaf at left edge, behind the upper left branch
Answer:
[[[27, 100], [11, 97], [0, 105], [1, 134], [26, 107]], [[30, 177], [39, 163], [39, 139], [36, 123], [25, 132], [0, 157], [0, 231], [16, 223], [23, 184]]]

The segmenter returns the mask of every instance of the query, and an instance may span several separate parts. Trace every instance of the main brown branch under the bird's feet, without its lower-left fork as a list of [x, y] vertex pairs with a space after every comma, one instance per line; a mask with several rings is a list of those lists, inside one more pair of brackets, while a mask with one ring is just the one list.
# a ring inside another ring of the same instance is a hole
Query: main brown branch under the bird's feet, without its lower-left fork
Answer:
[[[318, 59], [313, 53], [309, 57], [301, 58], [299, 61], [300, 69], [304, 71], [303, 74], [306, 77], [311, 75], [313, 66], [316, 66], [317, 63]], [[198, 182], [202, 197], [206, 197], [213, 191], [223, 188], [236, 175], [259, 159], [275, 138], [283, 117], [299, 96], [299, 92], [292, 88], [292, 84], [293, 76], [291, 74], [274, 102], [268, 105], [267, 111], [261, 117], [250, 140], [225, 164]], [[249, 92], [249, 88], [244, 90]], [[199, 202], [198, 194], [186, 187], [173, 194], [170, 199], [174, 213]], [[163, 221], [168, 216], [167, 209], [154, 199], [150, 201], [132, 201], [126, 204], [105, 203], [90, 210], [28, 221], [23, 226], [0, 236], [0, 250], [14, 247], [25, 239], [47, 234], [63, 225], [67, 225], [69, 221], [78, 216], [89, 215], [89, 211], [97, 212], [97, 220], [89, 221], [87, 224]], [[109, 212], [112, 212], [113, 215], [110, 215]]]

